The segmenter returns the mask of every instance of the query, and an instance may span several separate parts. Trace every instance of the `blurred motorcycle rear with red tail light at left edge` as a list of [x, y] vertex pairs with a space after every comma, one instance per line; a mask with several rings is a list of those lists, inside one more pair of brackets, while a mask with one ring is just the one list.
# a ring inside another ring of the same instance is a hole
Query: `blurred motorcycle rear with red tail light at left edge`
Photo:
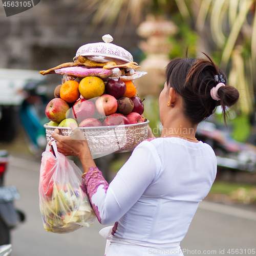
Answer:
[[[10, 243], [10, 229], [25, 221], [25, 214], [15, 209], [14, 200], [20, 195], [14, 185], [4, 186], [4, 175], [9, 162], [7, 151], [0, 151], [0, 245]], [[0, 251], [1, 252], [1, 251]], [[2, 254], [0, 253], [0, 256]], [[3, 254], [9, 255], [9, 254]]]

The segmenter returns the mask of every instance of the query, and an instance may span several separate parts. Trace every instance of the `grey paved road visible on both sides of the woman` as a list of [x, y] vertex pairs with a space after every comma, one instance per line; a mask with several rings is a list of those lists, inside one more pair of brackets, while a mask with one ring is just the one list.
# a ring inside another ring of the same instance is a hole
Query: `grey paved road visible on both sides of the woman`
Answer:
[[[8, 169], [6, 184], [16, 185], [22, 196], [15, 206], [27, 215], [27, 221], [12, 231], [12, 256], [104, 255], [105, 240], [98, 234], [103, 226], [97, 221], [68, 234], [44, 230], [38, 203], [39, 167], [38, 162], [13, 158]], [[200, 203], [181, 247], [184, 255], [231, 255], [228, 249], [252, 255], [248, 249], [256, 250], [256, 209]]]

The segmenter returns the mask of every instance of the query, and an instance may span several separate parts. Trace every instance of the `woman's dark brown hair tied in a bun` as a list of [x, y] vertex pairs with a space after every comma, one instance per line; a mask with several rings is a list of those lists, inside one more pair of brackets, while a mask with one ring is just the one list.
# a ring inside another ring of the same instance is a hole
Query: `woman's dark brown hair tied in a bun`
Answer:
[[[210, 116], [218, 105], [222, 106], [226, 123], [226, 108], [238, 101], [239, 92], [232, 86], [227, 86], [227, 79], [215, 62], [204, 53], [207, 58], [174, 58], [166, 67], [168, 87], [183, 98], [184, 113], [194, 124], [198, 124]], [[218, 95], [220, 100], [211, 98], [210, 90], [219, 82]]]

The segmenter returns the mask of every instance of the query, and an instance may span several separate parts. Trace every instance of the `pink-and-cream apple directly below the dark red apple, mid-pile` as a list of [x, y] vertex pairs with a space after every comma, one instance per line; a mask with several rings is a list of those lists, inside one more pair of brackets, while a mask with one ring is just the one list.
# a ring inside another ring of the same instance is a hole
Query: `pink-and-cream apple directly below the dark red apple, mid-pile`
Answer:
[[117, 111], [117, 100], [109, 94], [101, 95], [96, 101], [95, 106], [101, 116], [109, 116]]

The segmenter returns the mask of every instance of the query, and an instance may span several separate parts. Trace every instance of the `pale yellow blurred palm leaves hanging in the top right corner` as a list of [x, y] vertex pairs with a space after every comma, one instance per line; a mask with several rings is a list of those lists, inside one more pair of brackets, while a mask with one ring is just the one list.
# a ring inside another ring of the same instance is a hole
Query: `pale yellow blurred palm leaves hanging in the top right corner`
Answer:
[[[179, 1], [180, 0], [176, 0], [176, 2]], [[181, 1], [184, 2], [183, 0]], [[223, 49], [223, 66], [227, 65], [230, 54], [236, 44], [238, 35], [246, 21], [247, 14], [253, 2], [253, 0], [201, 0], [196, 29], [198, 32], [202, 31], [206, 16], [210, 14], [212, 38], [217, 46]], [[226, 38], [222, 29], [225, 17], [228, 17], [231, 29], [228, 38]], [[252, 59], [256, 61], [256, 18], [254, 18], [252, 26], [251, 49]]]

